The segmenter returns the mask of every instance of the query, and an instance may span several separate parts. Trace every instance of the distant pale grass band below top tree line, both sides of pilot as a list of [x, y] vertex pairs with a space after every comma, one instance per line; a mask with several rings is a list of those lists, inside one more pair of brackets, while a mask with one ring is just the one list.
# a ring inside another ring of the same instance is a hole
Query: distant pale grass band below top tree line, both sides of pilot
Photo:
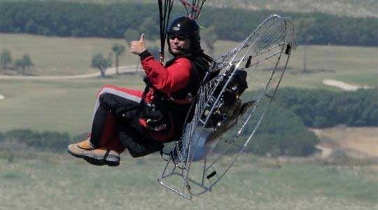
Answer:
[[[92, 55], [102, 52], [108, 55], [114, 43], [126, 42], [105, 38], [57, 38], [27, 34], [0, 34], [0, 51], [8, 49], [14, 59], [28, 53], [35, 64], [31, 73], [37, 75], [73, 75], [97, 71], [90, 68]], [[217, 41], [215, 55], [235, 48], [238, 43]], [[148, 42], [148, 46], [157, 45]], [[346, 83], [378, 85], [378, 48], [346, 46], [307, 46], [307, 70], [303, 69], [303, 46], [293, 50], [288, 74], [283, 85], [295, 87], [322, 87], [322, 80], [332, 78]], [[137, 64], [137, 56], [126, 49], [120, 57], [120, 65]], [[113, 56], [114, 57], [114, 56]], [[324, 86], [323, 86], [324, 87]]]

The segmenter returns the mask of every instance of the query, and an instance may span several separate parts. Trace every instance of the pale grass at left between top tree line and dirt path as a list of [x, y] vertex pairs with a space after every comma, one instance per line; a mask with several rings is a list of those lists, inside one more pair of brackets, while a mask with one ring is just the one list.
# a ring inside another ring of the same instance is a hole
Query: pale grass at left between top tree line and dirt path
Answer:
[[[120, 66], [139, 62], [139, 57], [128, 52], [128, 43], [122, 39], [0, 34], [0, 51], [10, 50], [13, 60], [22, 57], [25, 53], [29, 54], [35, 65], [29, 73], [36, 75], [73, 75], [96, 72], [97, 69], [91, 68], [92, 56], [102, 53], [108, 57], [115, 43], [122, 44], [126, 48], [124, 55], [120, 56]], [[114, 60], [115, 55], [113, 55], [113, 66]]]

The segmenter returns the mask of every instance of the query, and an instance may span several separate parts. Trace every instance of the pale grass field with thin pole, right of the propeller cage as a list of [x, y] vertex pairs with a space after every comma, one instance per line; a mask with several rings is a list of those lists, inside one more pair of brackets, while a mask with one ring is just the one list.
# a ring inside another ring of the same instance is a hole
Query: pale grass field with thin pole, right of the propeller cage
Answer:
[[354, 85], [378, 86], [378, 48], [351, 46], [307, 46], [307, 70], [303, 69], [304, 46], [290, 56], [283, 86], [329, 88], [324, 79], [341, 80]]

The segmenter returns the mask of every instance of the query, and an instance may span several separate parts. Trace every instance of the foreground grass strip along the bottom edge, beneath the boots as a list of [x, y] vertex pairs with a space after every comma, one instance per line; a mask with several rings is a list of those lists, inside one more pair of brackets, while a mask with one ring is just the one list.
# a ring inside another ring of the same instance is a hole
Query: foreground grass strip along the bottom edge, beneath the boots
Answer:
[[13, 163], [0, 159], [1, 209], [378, 207], [377, 182], [357, 173], [363, 168], [308, 163], [276, 168], [262, 166], [262, 162], [265, 160], [243, 156], [212, 193], [188, 202], [158, 184], [164, 162], [155, 155], [139, 160], [125, 155], [120, 167], [94, 167], [69, 155], [45, 154]]

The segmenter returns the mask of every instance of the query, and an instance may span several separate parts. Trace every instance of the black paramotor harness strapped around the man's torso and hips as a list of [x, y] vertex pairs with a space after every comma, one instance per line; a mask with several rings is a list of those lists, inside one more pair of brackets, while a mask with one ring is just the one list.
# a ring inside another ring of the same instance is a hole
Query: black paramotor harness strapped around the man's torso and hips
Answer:
[[149, 113], [141, 113], [142, 121], [140, 124], [146, 127], [151, 137], [157, 141], [168, 142], [181, 137], [183, 116], [185, 117], [188, 114], [190, 106], [195, 101], [195, 95], [202, 78], [209, 69], [209, 63], [205, 59], [190, 54], [174, 57], [165, 66], [171, 65], [176, 59], [182, 57], [189, 59], [191, 64], [188, 85], [182, 90], [165, 94], [156, 90], [148, 78], [144, 78], [146, 88], [139, 110], [144, 111], [143, 107], [146, 107], [145, 97], [150, 88], [154, 89], [154, 100], [151, 102], [151, 110], [147, 111]]

